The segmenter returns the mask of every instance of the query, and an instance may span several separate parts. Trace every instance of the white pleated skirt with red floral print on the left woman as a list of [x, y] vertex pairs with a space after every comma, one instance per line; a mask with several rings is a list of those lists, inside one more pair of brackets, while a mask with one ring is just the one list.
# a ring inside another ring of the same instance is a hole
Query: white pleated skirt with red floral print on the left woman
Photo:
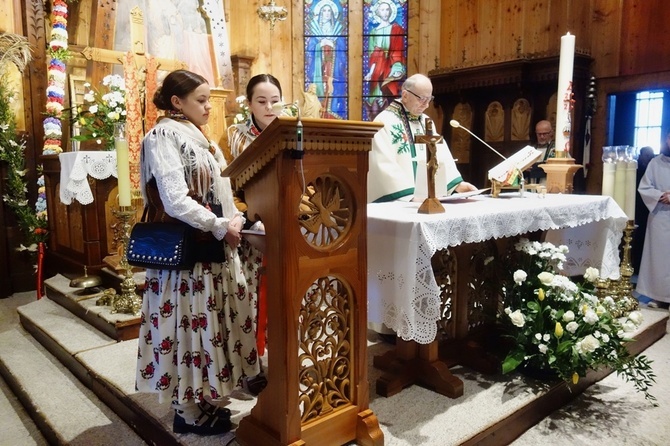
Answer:
[[260, 372], [256, 307], [260, 253], [224, 243], [225, 263], [147, 270], [136, 387], [160, 402], [219, 399]]

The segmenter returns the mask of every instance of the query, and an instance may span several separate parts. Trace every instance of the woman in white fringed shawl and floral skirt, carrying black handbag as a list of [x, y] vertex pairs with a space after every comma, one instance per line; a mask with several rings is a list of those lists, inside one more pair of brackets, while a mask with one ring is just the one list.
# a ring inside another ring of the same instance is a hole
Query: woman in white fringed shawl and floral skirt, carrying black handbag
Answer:
[[244, 218], [221, 176], [221, 150], [201, 131], [210, 88], [186, 70], [167, 75], [154, 96], [166, 117], [146, 135], [141, 190], [152, 221], [180, 220], [211, 238], [221, 262], [190, 271], [147, 269], [136, 385], [175, 409], [173, 430], [216, 435], [231, 428], [220, 399], [259, 373], [255, 305], [259, 263], [240, 256]]

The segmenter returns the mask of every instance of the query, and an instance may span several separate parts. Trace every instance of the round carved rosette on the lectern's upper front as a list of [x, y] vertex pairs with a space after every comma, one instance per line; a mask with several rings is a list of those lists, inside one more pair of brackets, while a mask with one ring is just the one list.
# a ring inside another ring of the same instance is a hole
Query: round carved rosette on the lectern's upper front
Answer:
[[310, 182], [300, 200], [298, 221], [307, 243], [328, 251], [341, 243], [351, 229], [353, 196], [347, 185], [332, 175]]

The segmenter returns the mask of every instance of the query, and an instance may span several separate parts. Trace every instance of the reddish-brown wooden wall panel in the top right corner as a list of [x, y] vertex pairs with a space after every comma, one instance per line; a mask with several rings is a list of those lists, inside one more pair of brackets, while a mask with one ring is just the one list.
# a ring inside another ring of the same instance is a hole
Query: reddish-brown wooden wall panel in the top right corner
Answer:
[[624, 9], [620, 75], [670, 69], [670, 2], [630, 0]]

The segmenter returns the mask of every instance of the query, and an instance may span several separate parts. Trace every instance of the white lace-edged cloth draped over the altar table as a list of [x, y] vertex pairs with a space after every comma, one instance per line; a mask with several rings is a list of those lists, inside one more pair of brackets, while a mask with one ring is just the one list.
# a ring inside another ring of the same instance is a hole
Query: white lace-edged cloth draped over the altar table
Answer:
[[526, 194], [521, 198], [515, 192], [445, 203], [443, 214], [419, 214], [419, 206], [396, 201], [367, 207], [368, 321], [383, 322], [406, 341], [428, 344], [437, 335], [440, 291], [431, 258], [440, 249], [576, 228], [547, 236], [571, 250], [581, 248], [578, 260], [568, 253], [566, 266], [573, 271], [568, 268], [567, 274], [580, 268], [576, 274], [581, 274], [586, 266], [594, 266], [601, 277], [619, 277], [618, 247], [627, 217], [611, 197]]

